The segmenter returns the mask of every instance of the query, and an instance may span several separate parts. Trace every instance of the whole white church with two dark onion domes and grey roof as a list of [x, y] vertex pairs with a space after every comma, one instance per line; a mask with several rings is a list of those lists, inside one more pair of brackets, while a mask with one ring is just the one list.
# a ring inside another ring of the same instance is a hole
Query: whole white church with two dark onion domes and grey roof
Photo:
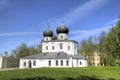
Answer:
[[77, 53], [78, 42], [68, 39], [69, 29], [62, 23], [56, 29], [43, 32], [42, 53], [20, 58], [20, 68], [86, 67], [87, 60]]

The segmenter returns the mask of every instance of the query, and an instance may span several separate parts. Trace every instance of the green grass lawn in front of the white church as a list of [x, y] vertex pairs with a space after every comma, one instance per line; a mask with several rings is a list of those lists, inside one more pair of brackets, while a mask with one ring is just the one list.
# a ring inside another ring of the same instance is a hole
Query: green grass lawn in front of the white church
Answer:
[[[120, 80], [120, 67], [37, 68], [0, 71], [0, 80], [83, 80], [79, 78], [80, 76], [94, 77], [98, 80]], [[36, 77], [52, 79], [32, 79]]]

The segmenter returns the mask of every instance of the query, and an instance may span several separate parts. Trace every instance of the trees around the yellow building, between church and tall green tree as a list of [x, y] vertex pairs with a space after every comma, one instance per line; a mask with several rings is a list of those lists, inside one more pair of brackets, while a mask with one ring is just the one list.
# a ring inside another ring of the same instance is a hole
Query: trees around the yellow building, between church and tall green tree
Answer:
[[93, 38], [90, 36], [87, 40], [81, 41], [80, 51], [87, 58], [88, 64], [91, 65], [91, 61], [94, 56], [95, 51], [100, 52], [100, 64], [101, 65], [114, 65], [114, 57], [111, 54], [108, 54], [106, 51], [106, 32], [102, 31], [98, 37]]

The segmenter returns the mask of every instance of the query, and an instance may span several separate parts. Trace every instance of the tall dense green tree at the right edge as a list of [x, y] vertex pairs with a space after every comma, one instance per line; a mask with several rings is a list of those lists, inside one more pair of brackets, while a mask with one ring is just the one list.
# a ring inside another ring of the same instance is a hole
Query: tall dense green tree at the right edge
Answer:
[[120, 59], [120, 20], [115, 27], [109, 31], [106, 38], [107, 52], [115, 58]]

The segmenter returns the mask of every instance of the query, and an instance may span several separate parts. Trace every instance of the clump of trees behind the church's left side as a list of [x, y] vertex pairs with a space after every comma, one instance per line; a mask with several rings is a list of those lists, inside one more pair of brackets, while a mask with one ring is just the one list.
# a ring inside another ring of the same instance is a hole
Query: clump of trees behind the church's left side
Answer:
[[20, 58], [29, 55], [39, 54], [41, 52], [42, 52], [41, 44], [38, 45], [37, 47], [34, 46], [28, 47], [25, 43], [22, 43], [20, 46], [18, 46], [16, 49], [12, 51], [12, 55], [9, 57], [9, 61], [11, 63], [9, 66], [11, 67], [12, 65], [12, 67], [16, 67], [16, 66], [18, 67]]

